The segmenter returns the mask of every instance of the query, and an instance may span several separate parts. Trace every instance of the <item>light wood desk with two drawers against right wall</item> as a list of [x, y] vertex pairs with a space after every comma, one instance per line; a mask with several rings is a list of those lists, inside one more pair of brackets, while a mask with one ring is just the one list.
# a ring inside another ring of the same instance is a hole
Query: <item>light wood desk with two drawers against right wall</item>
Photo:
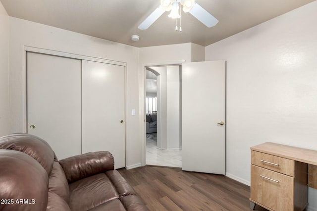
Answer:
[[270, 142], [251, 147], [250, 208], [305, 210], [307, 164], [317, 165], [317, 151]]

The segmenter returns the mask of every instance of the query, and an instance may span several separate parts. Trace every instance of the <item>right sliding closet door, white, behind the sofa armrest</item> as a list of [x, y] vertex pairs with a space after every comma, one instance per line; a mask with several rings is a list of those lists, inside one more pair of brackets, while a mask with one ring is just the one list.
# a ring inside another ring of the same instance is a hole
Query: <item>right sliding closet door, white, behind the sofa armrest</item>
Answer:
[[82, 61], [82, 149], [109, 151], [125, 167], [125, 67]]

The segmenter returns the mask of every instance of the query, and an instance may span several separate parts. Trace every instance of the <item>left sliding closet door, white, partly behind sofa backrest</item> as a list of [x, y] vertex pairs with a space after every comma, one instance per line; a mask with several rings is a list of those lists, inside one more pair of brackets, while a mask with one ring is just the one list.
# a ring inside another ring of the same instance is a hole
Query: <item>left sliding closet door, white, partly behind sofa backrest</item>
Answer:
[[81, 60], [27, 53], [27, 127], [58, 159], [81, 154]]

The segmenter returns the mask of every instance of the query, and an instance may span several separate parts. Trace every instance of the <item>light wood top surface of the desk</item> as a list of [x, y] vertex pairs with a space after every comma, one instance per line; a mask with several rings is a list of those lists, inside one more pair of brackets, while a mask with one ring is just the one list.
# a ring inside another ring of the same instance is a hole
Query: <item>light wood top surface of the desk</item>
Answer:
[[253, 146], [251, 147], [251, 150], [317, 166], [316, 150], [303, 149], [300, 147], [287, 146], [271, 142]]

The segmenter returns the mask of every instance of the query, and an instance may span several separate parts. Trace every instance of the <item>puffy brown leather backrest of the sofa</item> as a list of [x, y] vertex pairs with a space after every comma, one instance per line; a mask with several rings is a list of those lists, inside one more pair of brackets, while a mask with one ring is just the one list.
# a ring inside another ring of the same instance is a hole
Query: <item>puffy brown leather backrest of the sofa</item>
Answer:
[[[0, 198], [14, 200], [14, 204], [7, 204], [4, 209], [0, 204], [0, 210], [70, 210], [65, 172], [43, 139], [26, 133], [1, 137], [0, 164]], [[21, 205], [16, 204], [17, 199], [31, 201]]]

